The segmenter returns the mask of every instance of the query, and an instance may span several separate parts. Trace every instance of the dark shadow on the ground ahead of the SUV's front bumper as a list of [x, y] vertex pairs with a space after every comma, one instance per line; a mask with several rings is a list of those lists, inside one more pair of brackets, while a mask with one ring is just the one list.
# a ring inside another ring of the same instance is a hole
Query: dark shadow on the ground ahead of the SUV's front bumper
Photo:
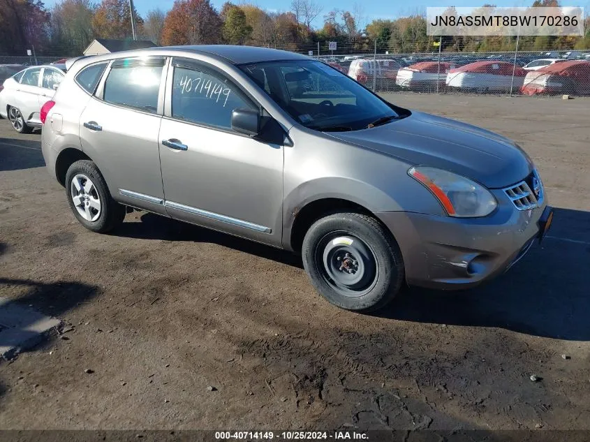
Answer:
[[378, 316], [589, 341], [589, 263], [590, 212], [556, 209], [543, 244], [506, 274], [471, 290], [408, 288]]

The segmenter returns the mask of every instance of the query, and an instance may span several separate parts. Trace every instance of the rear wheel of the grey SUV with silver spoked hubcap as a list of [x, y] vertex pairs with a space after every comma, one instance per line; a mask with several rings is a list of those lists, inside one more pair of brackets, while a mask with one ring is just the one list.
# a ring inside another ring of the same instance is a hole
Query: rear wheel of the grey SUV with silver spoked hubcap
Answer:
[[66, 196], [76, 219], [93, 232], [109, 232], [125, 218], [125, 206], [112, 199], [103, 175], [92, 161], [76, 161], [68, 168]]

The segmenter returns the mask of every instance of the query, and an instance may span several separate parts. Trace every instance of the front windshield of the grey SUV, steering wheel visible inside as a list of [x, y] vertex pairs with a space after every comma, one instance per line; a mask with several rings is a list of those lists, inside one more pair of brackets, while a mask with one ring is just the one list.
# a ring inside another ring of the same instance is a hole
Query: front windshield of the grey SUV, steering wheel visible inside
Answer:
[[357, 131], [407, 114], [320, 61], [270, 61], [240, 66], [303, 126], [318, 131]]

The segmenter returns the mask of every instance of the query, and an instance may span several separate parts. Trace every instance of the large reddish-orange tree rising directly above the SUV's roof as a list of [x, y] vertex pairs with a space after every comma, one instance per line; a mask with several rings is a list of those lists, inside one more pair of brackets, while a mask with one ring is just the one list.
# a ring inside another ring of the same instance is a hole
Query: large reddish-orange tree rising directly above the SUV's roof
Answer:
[[221, 18], [209, 0], [175, 0], [166, 15], [163, 45], [201, 45], [219, 43]]

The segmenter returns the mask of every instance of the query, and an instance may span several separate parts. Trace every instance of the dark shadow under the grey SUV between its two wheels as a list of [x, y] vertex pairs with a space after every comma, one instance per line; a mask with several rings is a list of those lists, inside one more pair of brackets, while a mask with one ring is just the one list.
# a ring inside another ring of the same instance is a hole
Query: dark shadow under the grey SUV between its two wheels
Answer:
[[292, 267], [303, 268], [300, 256], [265, 244], [244, 240], [149, 212], [143, 213], [140, 220], [140, 223], [126, 222], [121, 224], [112, 232], [112, 235], [142, 240], [211, 242]]

